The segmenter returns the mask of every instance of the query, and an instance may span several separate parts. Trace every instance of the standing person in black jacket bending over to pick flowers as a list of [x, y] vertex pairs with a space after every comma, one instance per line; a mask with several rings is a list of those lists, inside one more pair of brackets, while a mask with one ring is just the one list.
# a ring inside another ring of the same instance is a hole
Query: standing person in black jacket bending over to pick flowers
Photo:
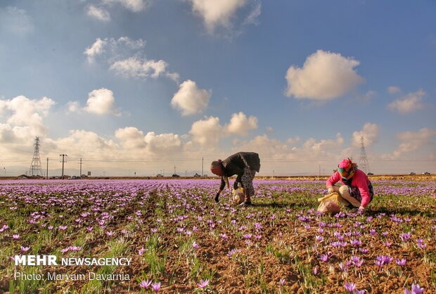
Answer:
[[244, 188], [244, 202], [242, 206], [251, 205], [251, 196], [255, 195], [253, 187], [253, 179], [256, 172], [260, 170], [259, 154], [254, 152], [238, 152], [230, 155], [225, 160], [212, 161], [210, 171], [221, 177], [221, 185], [219, 191], [215, 195], [215, 202], [219, 201], [219, 194], [224, 187], [230, 188], [229, 177], [237, 175], [233, 188], [238, 188], [238, 183]]

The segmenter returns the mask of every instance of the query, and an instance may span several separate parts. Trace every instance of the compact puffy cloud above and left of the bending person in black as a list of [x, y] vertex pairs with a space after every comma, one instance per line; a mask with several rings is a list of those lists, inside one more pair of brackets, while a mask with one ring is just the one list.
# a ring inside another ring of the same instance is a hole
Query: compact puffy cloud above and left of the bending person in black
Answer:
[[179, 91], [172, 97], [171, 105], [181, 110], [184, 116], [194, 115], [207, 108], [210, 96], [211, 91], [198, 88], [195, 82], [188, 79], [180, 84]]

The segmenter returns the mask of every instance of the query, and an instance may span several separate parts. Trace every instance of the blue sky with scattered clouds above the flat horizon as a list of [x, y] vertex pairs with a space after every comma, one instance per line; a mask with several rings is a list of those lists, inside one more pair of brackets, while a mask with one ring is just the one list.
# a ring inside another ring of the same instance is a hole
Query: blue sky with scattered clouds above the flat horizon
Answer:
[[238, 151], [261, 175], [342, 158], [436, 173], [435, 15], [432, 0], [0, 1], [0, 175], [30, 172], [35, 137], [49, 176], [60, 154], [70, 175], [190, 176]]

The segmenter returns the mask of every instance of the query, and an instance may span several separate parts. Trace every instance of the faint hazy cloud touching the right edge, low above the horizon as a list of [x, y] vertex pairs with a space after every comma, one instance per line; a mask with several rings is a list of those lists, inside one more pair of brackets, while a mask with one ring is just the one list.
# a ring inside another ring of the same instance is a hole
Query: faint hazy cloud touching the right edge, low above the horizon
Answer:
[[397, 134], [397, 138], [402, 143], [392, 153], [393, 158], [401, 158], [405, 153], [412, 153], [418, 151], [424, 146], [434, 146], [435, 143], [431, 141], [436, 137], [436, 130], [428, 129], [426, 127], [420, 129], [418, 132], [403, 132]]

